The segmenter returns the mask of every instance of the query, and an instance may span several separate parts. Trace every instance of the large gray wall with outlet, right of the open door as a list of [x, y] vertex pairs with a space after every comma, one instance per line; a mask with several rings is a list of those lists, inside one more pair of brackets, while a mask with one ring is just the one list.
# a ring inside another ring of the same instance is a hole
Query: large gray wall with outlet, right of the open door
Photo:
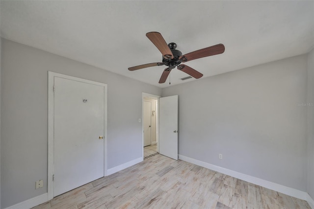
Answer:
[[306, 191], [306, 81], [300, 55], [164, 88], [179, 95], [179, 154]]

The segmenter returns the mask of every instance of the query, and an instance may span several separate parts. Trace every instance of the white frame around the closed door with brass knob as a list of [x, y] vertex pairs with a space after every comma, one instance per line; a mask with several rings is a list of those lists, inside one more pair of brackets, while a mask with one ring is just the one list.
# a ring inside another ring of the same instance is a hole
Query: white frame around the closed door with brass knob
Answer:
[[52, 71], [48, 71], [48, 178], [47, 178], [47, 184], [48, 184], [48, 200], [51, 200], [53, 198], [53, 157], [54, 157], [54, 147], [53, 147], [53, 141], [54, 141], [54, 91], [53, 91], [53, 84], [54, 84], [54, 77], [58, 78], [65, 78], [65, 79], [71, 79], [75, 81], [80, 81], [84, 83], [90, 83], [94, 85], [100, 85], [104, 86], [104, 176], [107, 174], [107, 106], [108, 106], [108, 87], [105, 83], [100, 83], [92, 80], [87, 80], [83, 78], [77, 78], [73, 76], [63, 75], [59, 73], [54, 73]]

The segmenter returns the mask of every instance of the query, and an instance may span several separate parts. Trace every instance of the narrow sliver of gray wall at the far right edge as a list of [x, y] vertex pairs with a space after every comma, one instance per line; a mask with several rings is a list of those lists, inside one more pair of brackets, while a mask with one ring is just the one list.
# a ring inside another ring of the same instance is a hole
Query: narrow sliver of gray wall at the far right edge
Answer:
[[[308, 101], [314, 104], [314, 50], [308, 55]], [[314, 106], [308, 108], [308, 193], [314, 199]]]

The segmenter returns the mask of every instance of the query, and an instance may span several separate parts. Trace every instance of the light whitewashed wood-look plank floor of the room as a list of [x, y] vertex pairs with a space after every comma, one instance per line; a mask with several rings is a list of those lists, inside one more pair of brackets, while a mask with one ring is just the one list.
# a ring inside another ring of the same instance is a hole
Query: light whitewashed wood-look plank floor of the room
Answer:
[[33, 209], [311, 209], [297, 198], [156, 155]]

